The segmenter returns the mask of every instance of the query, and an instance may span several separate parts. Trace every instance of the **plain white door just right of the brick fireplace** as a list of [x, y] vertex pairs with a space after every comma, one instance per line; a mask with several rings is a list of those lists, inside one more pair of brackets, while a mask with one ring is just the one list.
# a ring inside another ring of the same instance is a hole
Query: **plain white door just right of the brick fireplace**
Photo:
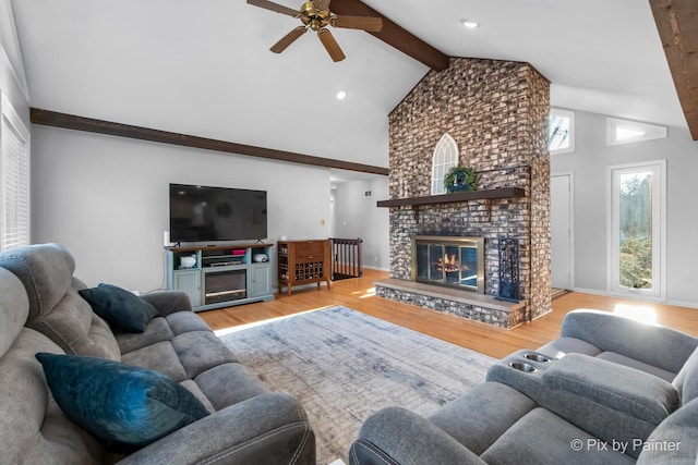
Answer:
[[550, 183], [552, 286], [571, 289], [571, 174], [555, 174]]

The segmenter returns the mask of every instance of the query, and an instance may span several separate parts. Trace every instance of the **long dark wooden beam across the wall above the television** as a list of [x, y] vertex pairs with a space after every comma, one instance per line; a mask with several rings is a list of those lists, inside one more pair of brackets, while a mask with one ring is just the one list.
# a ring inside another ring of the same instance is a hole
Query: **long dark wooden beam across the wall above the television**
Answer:
[[194, 147], [204, 150], [224, 151], [234, 155], [246, 155], [250, 157], [260, 157], [270, 160], [286, 161], [290, 163], [336, 168], [340, 170], [359, 171], [362, 173], [381, 174], [385, 176], [388, 175], [387, 168], [374, 167], [371, 164], [353, 163], [350, 161], [313, 157], [310, 155], [296, 154], [292, 151], [276, 150], [272, 148], [255, 147], [232, 142], [197, 137], [160, 130], [152, 130], [148, 127], [132, 126], [130, 124], [112, 123], [110, 121], [95, 120], [92, 118], [59, 113], [56, 111], [41, 110], [38, 108], [31, 109], [31, 119], [32, 123], [46, 126], [107, 134], [118, 137], [130, 137], [141, 140], [179, 145], [183, 147]]

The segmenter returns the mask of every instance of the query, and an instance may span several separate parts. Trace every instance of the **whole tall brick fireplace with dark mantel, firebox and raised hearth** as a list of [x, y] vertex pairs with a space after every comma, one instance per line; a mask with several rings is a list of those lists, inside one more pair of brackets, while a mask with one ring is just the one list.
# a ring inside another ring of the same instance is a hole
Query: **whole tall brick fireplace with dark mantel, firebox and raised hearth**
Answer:
[[[377, 295], [504, 328], [551, 310], [549, 96], [528, 63], [453, 58], [393, 110], [390, 198], [378, 201], [389, 208], [390, 278], [375, 283]], [[459, 164], [478, 172], [477, 191], [432, 194], [444, 134]], [[478, 246], [462, 248], [460, 238]], [[517, 298], [508, 302], [500, 297], [513, 285], [512, 264], [500, 269], [501, 245], [512, 242]], [[482, 259], [473, 265], [473, 256]]]

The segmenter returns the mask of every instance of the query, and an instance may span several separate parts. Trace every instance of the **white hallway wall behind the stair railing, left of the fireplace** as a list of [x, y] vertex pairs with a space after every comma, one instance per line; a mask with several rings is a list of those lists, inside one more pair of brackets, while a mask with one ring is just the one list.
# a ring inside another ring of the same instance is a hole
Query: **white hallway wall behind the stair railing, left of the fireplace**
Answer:
[[338, 184], [333, 199], [335, 236], [363, 238], [363, 266], [389, 270], [389, 211], [375, 205], [388, 199], [388, 178]]

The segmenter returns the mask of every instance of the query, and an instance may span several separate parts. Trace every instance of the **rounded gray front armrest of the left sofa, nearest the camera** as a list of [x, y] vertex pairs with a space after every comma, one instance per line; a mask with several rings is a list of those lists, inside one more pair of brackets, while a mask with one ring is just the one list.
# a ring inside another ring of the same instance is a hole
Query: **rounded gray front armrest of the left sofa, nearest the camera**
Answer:
[[315, 435], [288, 394], [262, 394], [141, 449], [120, 465], [287, 463], [315, 465]]

